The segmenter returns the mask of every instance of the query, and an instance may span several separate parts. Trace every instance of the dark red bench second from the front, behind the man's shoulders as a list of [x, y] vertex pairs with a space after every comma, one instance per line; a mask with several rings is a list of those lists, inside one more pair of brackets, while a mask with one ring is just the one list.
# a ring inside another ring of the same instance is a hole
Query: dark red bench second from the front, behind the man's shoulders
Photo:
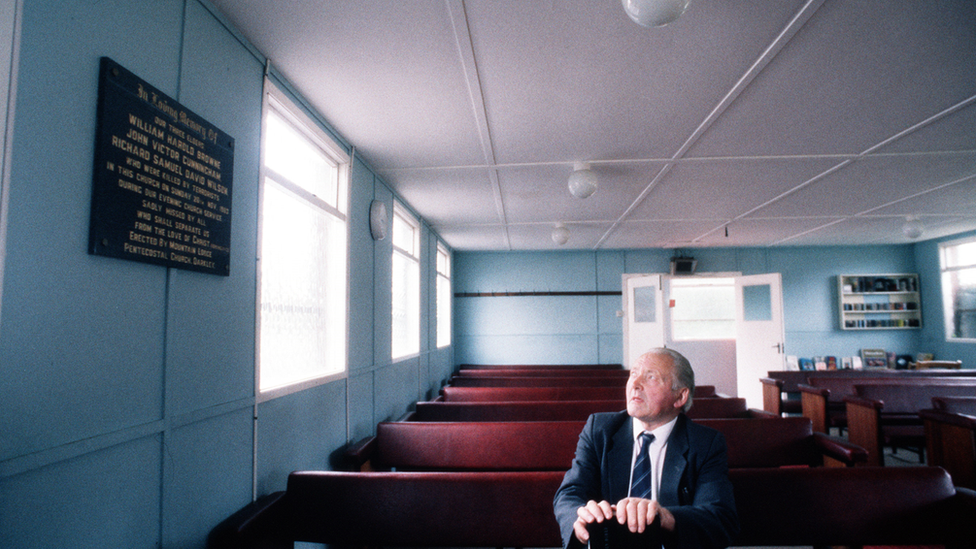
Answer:
[[[853, 466], [867, 452], [838, 437], [814, 433], [807, 418], [699, 419], [728, 445], [730, 468]], [[346, 451], [351, 470], [567, 471], [582, 421], [417, 422], [377, 425]]]

